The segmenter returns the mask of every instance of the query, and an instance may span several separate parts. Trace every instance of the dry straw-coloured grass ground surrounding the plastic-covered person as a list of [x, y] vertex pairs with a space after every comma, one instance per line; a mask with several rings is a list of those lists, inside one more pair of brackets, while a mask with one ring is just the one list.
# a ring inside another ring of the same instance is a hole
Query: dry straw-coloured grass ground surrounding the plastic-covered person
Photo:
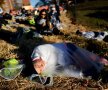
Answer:
[[[77, 36], [75, 31], [79, 29], [88, 29], [82, 25], [73, 25], [69, 18], [65, 16], [65, 14], [61, 15], [61, 20], [66, 27], [63, 28], [62, 32], [64, 35], [51, 35], [51, 36], [44, 36], [44, 38], [30, 38], [29, 36], [26, 37], [24, 35], [17, 43], [11, 44], [7, 41], [1, 39], [0, 40], [0, 58], [8, 59], [8, 58], [17, 58], [26, 57], [25, 61], [28, 62], [27, 58], [30, 58], [30, 55], [35, 46], [44, 44], [44, 43], [54, 43], [54, 42], [72, 42], [79, 47], [85, 48], [89, 51], [92, 51], [100, 56], [108, 58], [108, 43], [106, 42], [99, 42], [94, 40], [87, 40], [81, 36]], [[82, 24], [82, 23], [81, 23]], [[22, 25], [20, 25], [22, 26]], [[23, 27], [23, 26], [22, 26]], [[26, 27], [26, 26], [24, 26]], [[4, 27], [5, 28], [5, 27]], [[17, 27], [16, 27], [17, 28]], [[11, 28], [9, 31], [16, 30]], [[27, 71], [30, 71], [30, 63], [28, 63]], [[105, 75], [105, 73], [103, 74]], [[107, 77], [107, 75], [106, 75]], [[106, 79], [106, 78], [105, 78]], [[33, 83], [28, 78], [22, 77], [22, 75], [18, 76], [15, 80], [6, 81], [5, 79], [0, 77], [0, 90], [81, 90], [78, 87], [81, 87], [83, 84], [83, 80], [76, 79], [72, 77], [54, 77], [54, 85], [52, 87], [45, 87], [40, 85], [39, 83]], [[106, 80], [108, 81], [108, 80]], [[94, 85], [95, 83], [95, 85]], [[85, 87], [87, 90], [88, 88], [99, 88], [97, 86], [97, 81], [89, 80], [89, 85]], [[93, 84], [93, 85], [92, 85]], [[104, 83], [101, 83], [101, 85]], [[104, 85], [108, 85], [105, 83]], [[104, 86], [107, 88], [108, 86]], [[83, 87], [83, 86], [82, 86]]]

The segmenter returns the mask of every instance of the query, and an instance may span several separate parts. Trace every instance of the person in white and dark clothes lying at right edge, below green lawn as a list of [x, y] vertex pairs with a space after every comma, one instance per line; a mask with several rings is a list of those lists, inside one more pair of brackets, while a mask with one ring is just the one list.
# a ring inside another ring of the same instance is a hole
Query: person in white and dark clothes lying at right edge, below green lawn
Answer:
[[106, 36], [108, 36], [108, 32], [102, 31], [102, 32], [96, 32], [96, 31], [81, 31], [77, 30], [76, 31], [77, 35], [81, 35], [87, 39], [96, 39], [98, 41], [102, 41]]

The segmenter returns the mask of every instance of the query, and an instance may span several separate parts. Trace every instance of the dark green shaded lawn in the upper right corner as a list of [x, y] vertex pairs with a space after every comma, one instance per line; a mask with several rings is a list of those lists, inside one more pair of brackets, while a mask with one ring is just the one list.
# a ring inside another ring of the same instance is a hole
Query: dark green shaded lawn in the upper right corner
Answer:
[[108, 1], [106, 0], [78, 3], [75, 12], [77, 24], [99, 29], [108, 27]]

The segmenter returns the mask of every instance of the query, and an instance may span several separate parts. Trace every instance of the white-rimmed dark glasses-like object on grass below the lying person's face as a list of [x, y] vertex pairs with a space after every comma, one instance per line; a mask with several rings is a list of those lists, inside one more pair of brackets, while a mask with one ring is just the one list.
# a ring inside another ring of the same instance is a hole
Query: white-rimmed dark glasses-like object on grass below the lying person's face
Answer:
[[30, 77], [30, 80], [33, 82], [38, 82], [43, 85], [52, 86], [53, 85], [53, 78], [52, 77], [46, 77], [41, 76], [38, 74], [32, 74]]

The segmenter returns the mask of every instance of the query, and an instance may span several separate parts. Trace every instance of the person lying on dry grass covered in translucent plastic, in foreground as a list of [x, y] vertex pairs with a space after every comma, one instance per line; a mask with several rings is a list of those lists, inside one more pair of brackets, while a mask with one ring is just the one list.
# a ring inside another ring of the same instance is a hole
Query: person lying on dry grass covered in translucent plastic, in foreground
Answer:
[[103, 66], [108, 65], [105, 58], [69, 42], [39, 45], [31, 58], [36, 72], [47, 76], [92, 76], [96, 79]]

